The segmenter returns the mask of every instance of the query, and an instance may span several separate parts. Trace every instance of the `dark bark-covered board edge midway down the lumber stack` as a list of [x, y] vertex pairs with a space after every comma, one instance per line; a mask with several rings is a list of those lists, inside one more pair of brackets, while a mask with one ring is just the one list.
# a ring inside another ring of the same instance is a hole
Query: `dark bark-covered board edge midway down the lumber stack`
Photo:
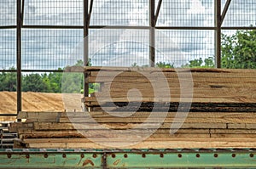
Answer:
[[[154, 103], [150, 102], [143, 102], [143, 103], [137, 103], [137, 102], [131, 102], [129, 105], [124, 102], [115, 102], [115, 105], [113, 106], [113, 103], [108, 104], [102, 104], [101, 107], [99, 105], [90, 105], [88, 107], [93, 108], [92, 110], [102, 111], [102, 110], [108, 110], [111, 112], [119, 112], [119, 111], [161, 111], [161, 112], [177, 112], [179, 108], [179, 103], [172, 102], [172, 103], [158, 103], [157, 106], [154, 106]], [[97, 109], [95, 109], [97, 108]], [[101, 109], [99, 109], [101, 108]], [[154, 109], [153, 109], [154, 108]], [[181, 109], [183, 106], [180, 107]], [[91, 109], [90, 109], [91, 110]], [[192, 103], [189, 111], [191, 112], [256, 112], [256, 104], [255, 103]]]

